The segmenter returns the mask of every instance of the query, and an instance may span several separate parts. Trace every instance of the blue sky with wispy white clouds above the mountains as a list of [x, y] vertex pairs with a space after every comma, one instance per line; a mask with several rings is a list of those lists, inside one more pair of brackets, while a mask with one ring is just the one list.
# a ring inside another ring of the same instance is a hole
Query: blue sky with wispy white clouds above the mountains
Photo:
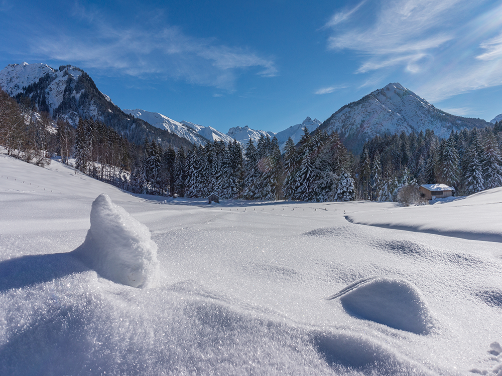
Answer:
[[72, 64], [120, 108], [280, 131], [390, 82], [502, 113], [502, 3], [0, 0], [0, 65]]

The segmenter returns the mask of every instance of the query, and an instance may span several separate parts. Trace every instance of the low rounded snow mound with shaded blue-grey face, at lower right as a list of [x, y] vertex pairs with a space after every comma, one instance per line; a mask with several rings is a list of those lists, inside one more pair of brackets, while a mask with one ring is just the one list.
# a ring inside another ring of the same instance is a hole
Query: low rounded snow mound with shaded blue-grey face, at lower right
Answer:
[[372, 277], [348, 285], [330, 299], [340, 298], [350, 314], [395, 329], [428, 334], [433, 319], [420, 291], [395, 278]]

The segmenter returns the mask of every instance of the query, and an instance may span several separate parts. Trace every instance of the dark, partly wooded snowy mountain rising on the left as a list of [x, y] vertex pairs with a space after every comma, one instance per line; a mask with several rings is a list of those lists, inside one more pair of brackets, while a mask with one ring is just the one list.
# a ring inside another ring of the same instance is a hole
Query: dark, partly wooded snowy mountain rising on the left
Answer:
[[54, 69], [47, 64], [9, 64], [0, 71], [0, 87], [18, 100], [29, 97], [39, 111], [48, 112], [53, 119], [66, 119], [73, 126], [80, 118], [92, 118], [136, 144], [148, 138], [159, 140], [164, 147], [191, 146], [174, 133], [124, 113], [97, 89], [87, 73], [71, 65]]

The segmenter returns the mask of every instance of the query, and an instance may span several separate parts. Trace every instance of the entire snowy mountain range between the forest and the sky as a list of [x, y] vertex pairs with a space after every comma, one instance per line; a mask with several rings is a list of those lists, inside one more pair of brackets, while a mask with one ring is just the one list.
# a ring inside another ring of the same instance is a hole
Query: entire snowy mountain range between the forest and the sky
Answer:
[[[28, 96], [40, 111], [47, 111], [53, 118], [67, 119], [76, 125], [81, 117], [100, 120], [141, 144], [145, 137], [155, 138], [166, 146], [189, 147], [208, 141], [233, 139], [243, 145], [257, 141], [262, 135], [277, 137], [281, 150], [288, 137], [300, 141], [303, 128], [310, 132], [319, 128], [328, 133], [336, 131], [345, 146], [359, 153], [364, 142], [377, 134], [418, 133], [427, 128], [440, 137], [463, 128], [484, 127], [488, 122], [481, 119], [455, 116], [441, 111], [399, 83], [390, 83], [375, 90], [356, 102], [349, 103], [320, 122], [307, 117], [302, 123], [281, 132], [232, 127], [224, 134], [212, 127], [189, 121], [176, 121], [166, 115], [142, 109], [121, 110], [111, 99], [101, 93], [92, 79], [81, 69], [71, 65], [53, 69], [46, 64], [10, 64], [0, 71], [0, 87], [13, 97]], [[491, 120], [502, 120], [502, 114]]]

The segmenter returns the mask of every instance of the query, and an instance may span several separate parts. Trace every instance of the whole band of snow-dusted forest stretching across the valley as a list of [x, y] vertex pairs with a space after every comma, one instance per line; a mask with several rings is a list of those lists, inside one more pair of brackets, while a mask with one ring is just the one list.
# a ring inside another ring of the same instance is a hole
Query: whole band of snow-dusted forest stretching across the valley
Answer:
[[[17, 99], [17, 100], [16, 100]], [[38, 112], [27, 97], [0, 90], [0, 145], [37, 165], [59, 156], [81, 172], [133, 193], [221, 199], [290, 201], [403, 201], [420, 203], [420, 184], [444, 183], [456, 195], [502, 186], [502, 124], [463, 129], [440, 139], [433, 131], [378, 135], [360, 155], [336, 133], [317, 129], [281, 153], [277, 138], [256, 143], [163, 147], [155, 137], [129, 141], [101, 121], [80, 118], [75, 128]], [[406, 187], [406, 190], [405, 190]], [[401, 195], [400, 195], [401, 193]]]

